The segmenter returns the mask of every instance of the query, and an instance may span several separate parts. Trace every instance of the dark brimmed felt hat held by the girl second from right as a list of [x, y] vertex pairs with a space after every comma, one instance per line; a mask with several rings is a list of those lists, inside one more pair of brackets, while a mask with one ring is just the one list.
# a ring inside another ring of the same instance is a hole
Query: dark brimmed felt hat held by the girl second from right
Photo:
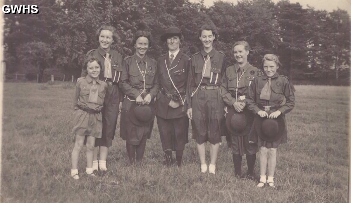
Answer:
[[227, 108], [228, 114], [225, 123], [229, 132], [236, 136], [244, 136], [249, 134], [247, 128], [247, 116], [244, 113], [238, 113], [234, 108]]

